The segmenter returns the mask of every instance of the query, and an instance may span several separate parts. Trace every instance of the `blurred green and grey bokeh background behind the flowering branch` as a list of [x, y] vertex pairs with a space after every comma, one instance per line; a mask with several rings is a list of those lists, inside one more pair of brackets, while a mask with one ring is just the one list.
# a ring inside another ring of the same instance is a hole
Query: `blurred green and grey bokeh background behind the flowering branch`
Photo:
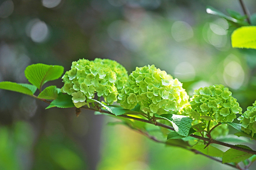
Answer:
[[[256, 1], [245, 3], [256, 12]], [[207, 5], [243, 13], [238, 0], [0, 0], [0, 81], [28, 83], [24, 70], [34, 63], [68, 71], [81, 58], [108, 58], [129, 74], [155, 64], [189, 96], [224, 84], [246, 110], [256, 100], [256, 50], [232, 49], [228, 22], [207, 14]], [[232, 169], [109, 126], [112, 117], [45, 107], [0, 90], [1, 170]]]

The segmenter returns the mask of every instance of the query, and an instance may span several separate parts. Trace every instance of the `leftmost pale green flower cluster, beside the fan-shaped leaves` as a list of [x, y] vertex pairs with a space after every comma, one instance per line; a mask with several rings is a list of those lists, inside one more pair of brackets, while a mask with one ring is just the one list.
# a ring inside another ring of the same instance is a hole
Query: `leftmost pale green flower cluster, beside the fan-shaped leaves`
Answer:
[[117, 101], [116, 84], [120, 88], [125, 77], [128, 78], [127, 71], [116, 61], [80, 59], [72, 62], [71, 70], [63, 75], [64, 86], [61, 91], [73, 96], [72, 100], [77, 108], [84, 106], [86, 98], [93, 98], [95, 93], [112, 104]]

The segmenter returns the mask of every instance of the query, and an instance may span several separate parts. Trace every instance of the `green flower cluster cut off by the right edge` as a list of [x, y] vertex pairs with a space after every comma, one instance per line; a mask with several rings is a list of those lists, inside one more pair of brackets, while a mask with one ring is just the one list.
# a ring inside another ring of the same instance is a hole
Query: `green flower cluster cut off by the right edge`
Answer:
[[252, 132], [252, 137], [256, 133], [256, 101], [252, 106], [247, 107], [247, 110], [237, 118], [242, 123], [242, 130], [247, 134]]

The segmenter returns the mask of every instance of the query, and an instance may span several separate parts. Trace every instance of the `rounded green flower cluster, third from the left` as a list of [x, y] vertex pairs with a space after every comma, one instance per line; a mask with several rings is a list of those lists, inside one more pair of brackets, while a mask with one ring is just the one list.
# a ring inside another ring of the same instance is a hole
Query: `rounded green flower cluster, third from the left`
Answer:
[[194, 91], [189, 104], [184, 105], [179, 113], [194, 120], [232, 122], [236, 114], [242, 114], [242, 108], [231, 95], [228, 88], [221, 84], [200, 88]]

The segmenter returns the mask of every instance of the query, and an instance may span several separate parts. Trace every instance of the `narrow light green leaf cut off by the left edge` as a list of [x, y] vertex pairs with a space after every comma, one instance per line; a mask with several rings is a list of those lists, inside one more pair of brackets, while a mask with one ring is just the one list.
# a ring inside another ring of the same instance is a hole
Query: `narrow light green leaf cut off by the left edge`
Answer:
[[10, 82], [10, 81], [0, 82], [0, 89], [16, 91], [16, 92], [23, 93], [23, 94], [26, 94], [29, 96], [33, 96], [33, 92], [30, 89], [28, 89], [27, 87], [24, 87], [20, 84]]

